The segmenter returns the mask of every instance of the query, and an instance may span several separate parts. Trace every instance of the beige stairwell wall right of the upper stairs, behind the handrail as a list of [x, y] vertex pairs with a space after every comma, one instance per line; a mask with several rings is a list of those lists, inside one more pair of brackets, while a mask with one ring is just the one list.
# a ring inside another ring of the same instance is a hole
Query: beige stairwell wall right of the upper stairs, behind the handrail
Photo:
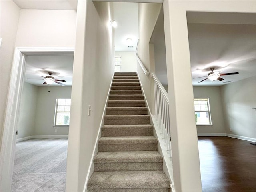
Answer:
[[[161, 10], [162, 4], [158, 3], [140, 3], [138, 7], [139, 16], [139, 39], [138, 44], [138, 57], [144, 64], [145, 68], [154, 72], [154, 66], [150, 65], [150, 48], [149, 42], [152, 36], [158, 14]], [[151, 63], [152, 64], [152, 63]], [[142, 71], [140, 65], [137, 66], [138, 75], [140, 77], [141, 84], [145, 93], [146, 100], [148, 102], [148, 107], [152, 110], [151, 106], [151, 77], [146, 76]]]

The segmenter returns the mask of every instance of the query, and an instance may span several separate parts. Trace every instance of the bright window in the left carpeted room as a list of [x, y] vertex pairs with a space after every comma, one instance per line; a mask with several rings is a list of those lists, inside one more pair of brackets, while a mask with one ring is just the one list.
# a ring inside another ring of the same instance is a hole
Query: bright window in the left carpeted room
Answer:
[[69, 126], [71, 99], [56, 99], [54, 126]]

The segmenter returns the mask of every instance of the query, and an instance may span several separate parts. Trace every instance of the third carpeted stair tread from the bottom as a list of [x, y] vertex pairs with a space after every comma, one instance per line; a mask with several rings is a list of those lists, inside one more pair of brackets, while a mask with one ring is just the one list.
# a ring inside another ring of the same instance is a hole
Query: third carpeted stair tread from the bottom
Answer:
[[101, 137], [98, 144], [157, 144], [154, 136]]

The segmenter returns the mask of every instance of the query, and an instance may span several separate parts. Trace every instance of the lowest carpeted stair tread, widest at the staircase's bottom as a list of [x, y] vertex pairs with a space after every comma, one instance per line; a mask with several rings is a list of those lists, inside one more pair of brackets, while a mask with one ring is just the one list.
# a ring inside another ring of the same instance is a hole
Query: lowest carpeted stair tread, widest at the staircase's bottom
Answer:
[[170, 182], [163, 171], [94, 172], [88, 182], [88, 189], [123, 188], [170, 188]]

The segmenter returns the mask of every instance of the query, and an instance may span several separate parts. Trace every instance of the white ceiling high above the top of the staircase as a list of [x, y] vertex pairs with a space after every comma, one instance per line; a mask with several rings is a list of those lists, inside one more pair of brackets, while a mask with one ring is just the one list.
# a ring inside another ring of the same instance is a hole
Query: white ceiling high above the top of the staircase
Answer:
[[[138, 3], [114, 2], [114, 20], [118, 26], [115, 28], [115, 50], [136, 51], [139, 38]], [[131, 42], [126, 40], [131, 38]], [[133, 46], [129, 48], [128, 46]]]

